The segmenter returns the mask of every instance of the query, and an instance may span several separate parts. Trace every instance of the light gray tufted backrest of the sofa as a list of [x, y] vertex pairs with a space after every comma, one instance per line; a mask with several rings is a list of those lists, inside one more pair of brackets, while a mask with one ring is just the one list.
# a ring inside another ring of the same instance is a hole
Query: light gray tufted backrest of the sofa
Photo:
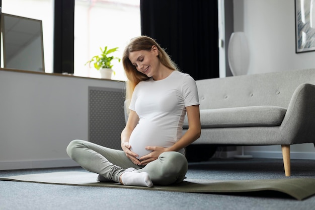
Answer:
[[197, 80], [200, 109], [244, 106], [288, 108], [302, 83], [315, 85], [315, 69]]

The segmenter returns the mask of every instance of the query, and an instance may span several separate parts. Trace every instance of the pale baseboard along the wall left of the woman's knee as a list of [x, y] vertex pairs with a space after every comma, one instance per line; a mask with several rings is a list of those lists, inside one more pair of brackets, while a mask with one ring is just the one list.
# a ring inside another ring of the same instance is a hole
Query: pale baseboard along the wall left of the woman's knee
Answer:
[[33, 160], [33, 161], [0, 161], [0, 170], [36, 169], [36, 168], [59, 168], [78, 166], [71, 159], [57, 160]]

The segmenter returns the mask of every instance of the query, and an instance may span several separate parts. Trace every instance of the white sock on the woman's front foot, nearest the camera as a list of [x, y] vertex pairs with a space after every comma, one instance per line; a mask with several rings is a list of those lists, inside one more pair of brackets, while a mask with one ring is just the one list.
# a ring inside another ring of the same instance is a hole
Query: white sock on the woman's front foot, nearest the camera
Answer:
[[146, 172], [139, 173], [138, 171], [125, 172], [121, 175], [123, 185], [152, 187], [150, 176]]

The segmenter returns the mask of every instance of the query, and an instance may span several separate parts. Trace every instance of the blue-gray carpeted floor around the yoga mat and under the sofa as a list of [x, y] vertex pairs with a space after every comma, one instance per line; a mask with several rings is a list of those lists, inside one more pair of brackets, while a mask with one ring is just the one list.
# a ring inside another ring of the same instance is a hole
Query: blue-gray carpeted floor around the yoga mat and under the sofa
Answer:
[[[291, 160], [291, 177], [315, 178], [315, 160]], [[0, 177], [82, 168], [0, 171]], [[285, 178], [280, 159], [217, 159], [190, 163], [187, 178]], [[314, 209], [315, 196], [298, 201], [285, 194], [178, 193], [136, 189], [64, 186], [0, 181], [0, 209]]]

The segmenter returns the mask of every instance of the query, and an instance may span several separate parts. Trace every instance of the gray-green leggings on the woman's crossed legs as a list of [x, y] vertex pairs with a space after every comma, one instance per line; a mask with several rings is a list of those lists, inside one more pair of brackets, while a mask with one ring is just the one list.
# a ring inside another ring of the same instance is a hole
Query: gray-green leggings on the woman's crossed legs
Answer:
[[83, 140], [70, 142], [67, 154], [87, 171], [101, 175], [103, 181], [119, 182], [125, 169], [132, 167], [139, 172], [147, 172], [153, 184], [169, 185], [182, 182], [188, 170], [186, 157], [179, 152], [162, 153], [157, 160], [144, 167], [132, 163], [121, 150]]

